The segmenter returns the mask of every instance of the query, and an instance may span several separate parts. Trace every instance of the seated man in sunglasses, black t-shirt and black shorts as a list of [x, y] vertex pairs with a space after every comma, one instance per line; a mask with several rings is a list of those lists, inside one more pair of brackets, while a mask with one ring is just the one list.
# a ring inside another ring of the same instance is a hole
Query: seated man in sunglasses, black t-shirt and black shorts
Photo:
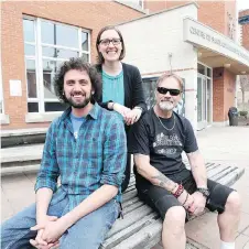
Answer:
[[[129, 152], [134, 154], [138, 195], [163, 219], [163, 248], [184, 249], [188, 214], [199, 215], [207, 207], [218, 212], [221, 249], [235, 249], [239, 195], [207, 180], [191, 122], [173, 111], [182, 90], [177, 75], [162, 75], [156, 83], [155, 106], [131, 129]], [[182, 161], [183, 151], [191, 171]]]

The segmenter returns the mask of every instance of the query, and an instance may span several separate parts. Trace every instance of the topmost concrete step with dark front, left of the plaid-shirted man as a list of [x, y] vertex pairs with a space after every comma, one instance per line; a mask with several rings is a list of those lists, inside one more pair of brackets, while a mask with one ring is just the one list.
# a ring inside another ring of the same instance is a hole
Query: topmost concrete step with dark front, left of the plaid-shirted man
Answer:
[[47, 128], [2, 130], [1, 148], [33, 144], [33, 143], [44, 143], [46, 131], [47, 131]]

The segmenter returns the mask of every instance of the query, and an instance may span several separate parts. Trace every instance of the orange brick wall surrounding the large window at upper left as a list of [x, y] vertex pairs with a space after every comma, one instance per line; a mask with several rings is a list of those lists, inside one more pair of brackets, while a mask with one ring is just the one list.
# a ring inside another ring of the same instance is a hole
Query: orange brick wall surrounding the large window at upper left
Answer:
[[[67, 23], [91, 31], [91, 62], [95, 62], [95, 41], [98, 31], [107, 24], [116, 24], [142, 17], [143, 13], [115, 1], [26, 1], [1, 3], [1, 59], [4, 112], [10, 124], [2, 129], [44, 127], [47, 123], [25, 123], [26, 83], [23, 45], [23, 14]], [[11, 97], [10, 79], [22, 82], [22, 97]]]

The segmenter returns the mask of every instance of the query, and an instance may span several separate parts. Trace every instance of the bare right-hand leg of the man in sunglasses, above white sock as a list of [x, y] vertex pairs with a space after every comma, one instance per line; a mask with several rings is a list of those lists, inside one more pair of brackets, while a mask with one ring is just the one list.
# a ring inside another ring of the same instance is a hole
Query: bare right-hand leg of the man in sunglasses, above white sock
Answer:
[[225, 206], [225, 212], [218, 215], [220, 239], [225, 242], [234, 242], [240, 219], [240, 198], [237, 192], [232, 192]]

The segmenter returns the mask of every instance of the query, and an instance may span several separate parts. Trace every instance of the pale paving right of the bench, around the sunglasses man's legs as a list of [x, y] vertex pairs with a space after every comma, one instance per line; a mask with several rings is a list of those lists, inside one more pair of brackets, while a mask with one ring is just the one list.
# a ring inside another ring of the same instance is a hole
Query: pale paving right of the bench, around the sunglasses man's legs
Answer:
[[[249, 249], [249, 127], [209, 128], [197, 133], [205, 161], [245, 167], [243, 176], [232, 186], [241, 196], [241, 221], [236, 249]], [[208, 213], [186, 225], [187, 236], [210, 248], [219, 249], [216, 214]]]

